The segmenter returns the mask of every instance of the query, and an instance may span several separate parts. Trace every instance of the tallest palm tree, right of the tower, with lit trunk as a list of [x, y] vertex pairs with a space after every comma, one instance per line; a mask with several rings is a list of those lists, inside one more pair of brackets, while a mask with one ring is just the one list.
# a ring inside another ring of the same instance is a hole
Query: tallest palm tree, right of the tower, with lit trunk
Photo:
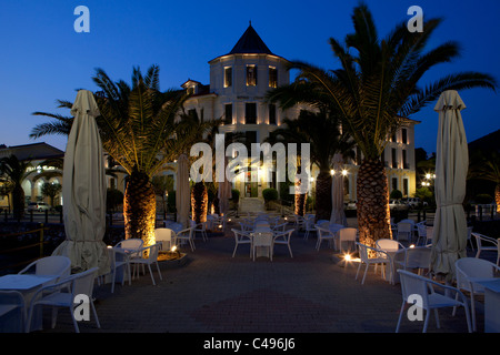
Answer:
[[496, 80], [484, 73], [460, 72], [446, 75], [424, 88], [421, 78], [437, 64], [459, 54], [456, 42], [446, 42], [424, 52], [440, 19], [424, 22], [423, 32], [410, 33], [407, 23], [399, 23], [380, 39], [372, 16], [363, 3], [352, 14], [354, 32], [344, 44], [331, 38], [330, 45], [341, 68], [326, 71], [294, 61], [291, 68], [300, 73], [288, 91], [304, 92], [303, 98], [280, 101], [283, 108], [297, 102], [330, 102], [342, 119], [363, 154], [358, 181], [358, 227], [360, 242], [373, 245], [378, 239], [390, 237], [389, 190], [381, 153], [387, 138], [396, 132], [404, 118], [437, 100], [446, 90], [496, 88]]

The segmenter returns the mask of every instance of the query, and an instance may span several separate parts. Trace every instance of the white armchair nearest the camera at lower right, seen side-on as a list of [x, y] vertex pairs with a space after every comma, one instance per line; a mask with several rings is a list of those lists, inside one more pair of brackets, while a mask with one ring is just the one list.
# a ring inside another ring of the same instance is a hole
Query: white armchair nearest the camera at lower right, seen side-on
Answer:
[[[467, 327], [469, 329], [469, 333], [471, 333], [471, 324], [470, 324], [470, 315], [469, 315], [469, 306], [467, 304], [467, 298], [463, 295], [460, 290], [440, 284], [438, 282], [434, 282], [430, 278], [417, 275], [414, 273], [404, 271], [404, 270], [398, 270], [399, 278], [401, 281], [401, 292], [402, 292], [402, 305], [401, 310], [399, 312], [399, 320], [398, 325], [396, 326], [396, 333], [399, 332], [401, 320], [404, 314], [404, 306], [407, 303], [413, 304], [414, 297], [420, 296], [421, 297], [421, 308], [426, 310], [426, 321], [423, 323], [423, 329], [422, 333], [427, 332], [428, 325], [429, 325], [429, 316], [430, 312], [433, 310], [436, 315], [436, 324], [437, 327], [440, 328], [441, 325], [439, 323], [439, 315], [438, 315], [438, 308], [443, 307], [454, 307], [454, 306], [462, 306], [466, 312], [466, 318], [467, 318]], [[450, 293], [456, 293], [457, 297], [447, 296], [441, 293], [437, 293], [434, 288], [440, 288], [448, 291]]]

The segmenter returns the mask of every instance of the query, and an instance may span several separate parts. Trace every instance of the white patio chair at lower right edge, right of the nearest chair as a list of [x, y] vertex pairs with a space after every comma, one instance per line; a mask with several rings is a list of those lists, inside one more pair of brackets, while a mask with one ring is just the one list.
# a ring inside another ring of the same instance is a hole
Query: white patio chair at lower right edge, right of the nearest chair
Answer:
[[[454, 263], [457, 288], [469, 292], [470, 294], [470, 308], [472, 314], [472, 328], [477, 331], [476, 324], [476, 306], [474, 296], [484, 294], [484, 286], [477, 283], [484, 278], [493, 278], [494, 273], [500, 271], [500, 267], [496, 264], [476, 257], [459, 258]], [[456, 308], [453, 308], [454, 315]]]

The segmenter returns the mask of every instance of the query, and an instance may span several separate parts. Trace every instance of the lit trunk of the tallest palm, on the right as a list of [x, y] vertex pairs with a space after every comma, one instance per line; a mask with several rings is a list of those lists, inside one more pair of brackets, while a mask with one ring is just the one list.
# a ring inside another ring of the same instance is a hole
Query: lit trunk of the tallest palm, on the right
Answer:
[[360, 243], [374, 246], [380, 239], [391, 239], [389, 186], [379, 159], [363, 160], [358, 171], [357, 190]]

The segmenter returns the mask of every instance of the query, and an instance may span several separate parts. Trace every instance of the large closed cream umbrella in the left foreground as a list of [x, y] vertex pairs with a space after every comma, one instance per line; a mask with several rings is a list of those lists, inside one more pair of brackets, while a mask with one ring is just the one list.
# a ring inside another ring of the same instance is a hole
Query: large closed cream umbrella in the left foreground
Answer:
[[64, 153], [62, 197], [66, 241], [53, 252], [71, 260], [74, 271], [99, 267], [109, 272], [102, 237], [106, 232], [104, 156], [96, 116], [99, 109], [90, 91], [80, 90], [71, 108], [74, 116]]

